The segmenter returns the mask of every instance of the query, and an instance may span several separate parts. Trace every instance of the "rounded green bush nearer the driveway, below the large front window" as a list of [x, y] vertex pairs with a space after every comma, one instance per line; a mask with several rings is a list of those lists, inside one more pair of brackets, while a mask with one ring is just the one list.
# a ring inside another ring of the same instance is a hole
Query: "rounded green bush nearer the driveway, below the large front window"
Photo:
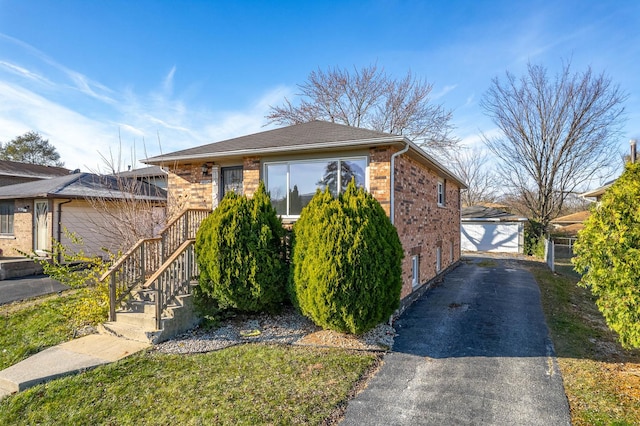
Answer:
[[316, 192], [294, 225], [289, 292], [317, 325], [364, 333], [400, 304], [403, 249], [380, 204], [352, 181]]

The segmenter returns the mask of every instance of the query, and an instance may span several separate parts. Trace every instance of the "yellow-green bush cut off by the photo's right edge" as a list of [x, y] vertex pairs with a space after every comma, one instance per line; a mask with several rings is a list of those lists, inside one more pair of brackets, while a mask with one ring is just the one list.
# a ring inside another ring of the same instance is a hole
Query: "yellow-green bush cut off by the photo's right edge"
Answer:
[[574, 253], [579, 285], [596, 297], [622, 346], [640, 348], [640, 164], [627, 164], [591, 210]]

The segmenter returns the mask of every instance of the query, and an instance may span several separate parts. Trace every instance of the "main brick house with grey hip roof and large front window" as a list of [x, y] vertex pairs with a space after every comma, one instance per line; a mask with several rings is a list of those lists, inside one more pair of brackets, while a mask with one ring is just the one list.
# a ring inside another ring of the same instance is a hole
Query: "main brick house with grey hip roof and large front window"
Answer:
[[406, 137], [313, 121], [144, 160], [168, 170], [174, 209], [215, 208], [227, 191], [251, 196], [260, 180], [284, 223], [317, 188], [351, 179], [395, 224], [404, 247], [402, 297], [460, 259], [465, 184]]

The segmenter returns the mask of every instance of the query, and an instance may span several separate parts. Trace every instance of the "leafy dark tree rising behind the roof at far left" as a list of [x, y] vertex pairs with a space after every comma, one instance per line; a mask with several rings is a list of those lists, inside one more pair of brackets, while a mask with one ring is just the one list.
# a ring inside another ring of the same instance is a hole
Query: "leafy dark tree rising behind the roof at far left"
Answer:
[[0, 144], [0, 160], [42, 166], [64, 166], [56, 147], [49, 143], [49, 139], [43, 139], [37, 132], [27, 132], [6, 144]]

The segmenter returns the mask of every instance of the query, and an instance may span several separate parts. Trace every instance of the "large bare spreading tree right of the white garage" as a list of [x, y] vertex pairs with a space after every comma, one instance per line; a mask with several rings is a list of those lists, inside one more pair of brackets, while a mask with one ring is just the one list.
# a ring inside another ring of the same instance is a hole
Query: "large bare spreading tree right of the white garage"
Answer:
[[502, 131], [484, 137], [501, 160], [505, 189], [519, 196], [544, 231], [568, 194], [602, 178], [617, 161], [626, 95], [591, 68], [572, 73], [563, 64], [554, 78], [529, 64], [516, 78], [494, 78], [481, 106]]

